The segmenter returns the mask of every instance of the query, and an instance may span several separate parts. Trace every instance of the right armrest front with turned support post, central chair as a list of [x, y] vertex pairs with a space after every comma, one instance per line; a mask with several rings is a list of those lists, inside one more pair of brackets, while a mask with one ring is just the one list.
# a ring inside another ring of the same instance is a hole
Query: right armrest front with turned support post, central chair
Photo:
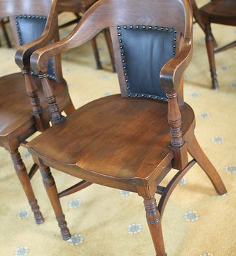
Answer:
[[186, 38], [179, 53], [164, 65], [160, 73], [160, 84], [168, 97], [168, 122], [172, 136], [170, 146], [174, 156], [172, 167], [178, 170], [183, 170], [188, 164], [188, 156], [186, 142], [181, 132], [181, 112], [177, 93], [184, 70], [190, 63], [192, 52], [192, 40]]

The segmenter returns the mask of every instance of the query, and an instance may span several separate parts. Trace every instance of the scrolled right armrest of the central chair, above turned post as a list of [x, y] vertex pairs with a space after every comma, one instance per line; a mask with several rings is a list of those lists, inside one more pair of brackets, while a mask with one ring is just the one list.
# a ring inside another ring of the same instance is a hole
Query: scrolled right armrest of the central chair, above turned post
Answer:
[[181, 76], [190, 63], [192, 53], [192, 40], [191, 38], [186, 38], [179, 53], [169, 60], [160, 72], [160, 84], [164, 92], [170, 93], [178, 90]]

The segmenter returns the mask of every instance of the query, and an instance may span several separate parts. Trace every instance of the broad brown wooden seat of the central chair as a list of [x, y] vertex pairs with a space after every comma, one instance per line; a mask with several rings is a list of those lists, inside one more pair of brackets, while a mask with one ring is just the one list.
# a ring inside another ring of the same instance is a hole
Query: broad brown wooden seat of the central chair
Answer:
[[[186, 104], [181, 114], [185, 135], [194, 114]], [[71, 169], [79, 178], [94, 182], [93, 176], [100, 176], [137, 184], [154, 171], [162, 173], [157, 167], [167, 163], [164, 159], [171, 161], [170, 139], [167, 102], [113, 95], [80, 107], [28, 147], [44, 162], [53, 159], [57, 169]]]

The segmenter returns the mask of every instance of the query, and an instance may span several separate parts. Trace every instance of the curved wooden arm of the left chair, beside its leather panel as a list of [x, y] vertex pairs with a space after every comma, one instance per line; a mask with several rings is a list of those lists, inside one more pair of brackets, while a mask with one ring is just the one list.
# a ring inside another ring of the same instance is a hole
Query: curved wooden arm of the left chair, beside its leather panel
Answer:
[[35, 50], [47, 46], [55, 37], [57, 32], [57, 0], [52, 1], [52, 8], [47, 18], [45, 31], [35, 41], [27, 43], [16, 51], [16, 64], [23, 70], [30, 68], [30, 56]]

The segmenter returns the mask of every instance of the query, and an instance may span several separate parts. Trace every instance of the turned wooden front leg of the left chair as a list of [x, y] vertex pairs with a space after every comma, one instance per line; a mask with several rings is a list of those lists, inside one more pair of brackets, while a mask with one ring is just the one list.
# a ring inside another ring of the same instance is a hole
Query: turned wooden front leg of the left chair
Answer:
[[30, 207], [33, 211], [35, 222], [37, 224], [41, 224], [44, 222], [43, 215], [42, 213], [40, 213], [39, 206], [35, 198], [35, 195], [33, 193], [33, 188], [30, 183], [30, 178], [26, 171], [26, 166], [21, 159], [21, 154], [18, 152], [18, 149], [15, 151], [11, 151], [10, 153], [11, 153], [11, 159], [14, 164], [14, 168], [16, 170], [16, 174], [21, 182], [23, 190], [25, 191], [26, 196], [28, 198]]

